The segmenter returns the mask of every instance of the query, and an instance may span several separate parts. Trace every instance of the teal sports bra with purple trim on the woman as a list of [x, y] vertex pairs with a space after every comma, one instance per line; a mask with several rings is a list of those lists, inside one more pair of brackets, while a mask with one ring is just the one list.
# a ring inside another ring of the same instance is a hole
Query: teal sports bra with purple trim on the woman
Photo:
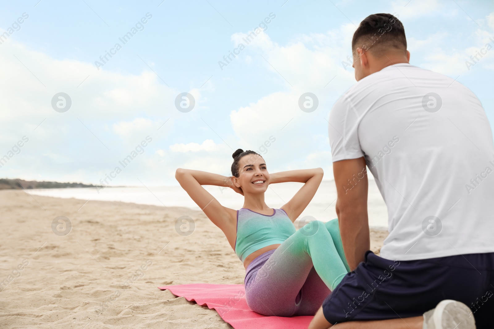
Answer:
[[242, 208], [237, 210], [235, 254], [244, 262], [253, 252], [283, 243], [293, 233], [295, 226], [283, 209], [273, 209], [273, 215], [262, 215]]

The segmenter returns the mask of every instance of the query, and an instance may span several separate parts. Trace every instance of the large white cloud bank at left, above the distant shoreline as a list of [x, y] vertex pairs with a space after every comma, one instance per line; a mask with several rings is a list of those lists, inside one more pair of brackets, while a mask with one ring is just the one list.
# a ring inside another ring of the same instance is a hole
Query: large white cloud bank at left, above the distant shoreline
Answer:
[[[137, 109], [148, 115], [161, 115], [163, 104], [173, 104], [177, 94], [160, 83], [153, 72], [133, 75], [98, 71], [90, 63], [53, 59], [12, 38], [1, 46], [0, 95], [8, 111], [1, 111], [0, 118], [36, 118], [33, 129], [38, 118], [46, 116], [77, 114], [87, 122], [134, 118]], [[51, 108], [51, 98], [58, 92], [72, 99], [72, 107], [65, 114]], [[22, 110], [15, 110], [20, 106]]]

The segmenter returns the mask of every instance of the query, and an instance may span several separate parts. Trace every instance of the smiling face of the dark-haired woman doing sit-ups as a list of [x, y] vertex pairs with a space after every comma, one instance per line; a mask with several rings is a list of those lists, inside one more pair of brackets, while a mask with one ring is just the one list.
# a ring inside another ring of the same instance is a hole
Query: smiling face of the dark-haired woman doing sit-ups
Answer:
[[265, 192], [269, 185], [269, 173], [262, 156], [257, 154], [244, 155], [239, 161], [238, 178], [234, 177], [237, 187], [245, 193]]

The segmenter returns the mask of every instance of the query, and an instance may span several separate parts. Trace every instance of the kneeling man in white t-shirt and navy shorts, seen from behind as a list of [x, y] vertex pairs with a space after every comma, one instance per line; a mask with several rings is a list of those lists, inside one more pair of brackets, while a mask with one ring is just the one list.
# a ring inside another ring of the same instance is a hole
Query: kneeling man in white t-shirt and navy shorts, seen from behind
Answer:
[[[494, 328], [494, 143], [480, 101], [410, 65], [393, 15], [364, 19], [352, 50], [358, 82], [331, 110], [329, 140], [354, 271], [309, 328]], [[366, 164], [388, 208], [380, 256], [369, 251]]]

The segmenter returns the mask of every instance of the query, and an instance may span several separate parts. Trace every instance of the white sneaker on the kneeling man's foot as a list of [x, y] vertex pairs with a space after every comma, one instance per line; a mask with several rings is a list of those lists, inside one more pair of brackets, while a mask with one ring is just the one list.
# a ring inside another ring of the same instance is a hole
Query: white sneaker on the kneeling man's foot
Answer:
[[445, 299], [424, 313], [424, 329], [475, 329], [475, 318], [462, 302]]

